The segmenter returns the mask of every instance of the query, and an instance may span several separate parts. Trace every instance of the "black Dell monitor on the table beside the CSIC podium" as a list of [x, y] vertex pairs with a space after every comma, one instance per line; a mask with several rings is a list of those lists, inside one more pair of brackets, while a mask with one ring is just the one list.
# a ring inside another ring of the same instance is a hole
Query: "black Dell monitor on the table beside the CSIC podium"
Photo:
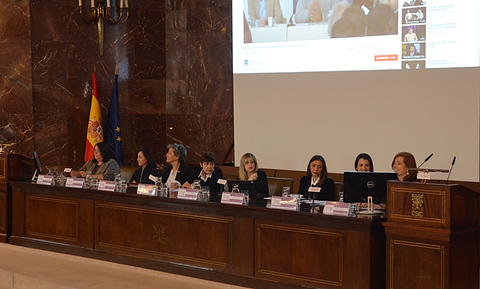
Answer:
[[387, 203], [387, 181], [397, 180], [397, 173], [344, 172], [344, 202], [374, 204]]

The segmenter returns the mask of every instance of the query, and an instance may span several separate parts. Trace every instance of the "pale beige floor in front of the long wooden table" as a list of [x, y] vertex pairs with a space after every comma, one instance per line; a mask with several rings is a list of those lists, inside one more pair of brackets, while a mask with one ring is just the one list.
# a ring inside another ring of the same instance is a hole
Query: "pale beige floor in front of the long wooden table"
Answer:
[[89, 258], [0, 244], [0, 289], [242, 289]]

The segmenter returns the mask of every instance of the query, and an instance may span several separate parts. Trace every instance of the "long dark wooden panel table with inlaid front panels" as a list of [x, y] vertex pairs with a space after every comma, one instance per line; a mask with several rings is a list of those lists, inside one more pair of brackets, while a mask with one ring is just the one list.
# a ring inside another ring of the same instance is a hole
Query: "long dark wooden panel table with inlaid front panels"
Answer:
[[254, 288], [385, 288], [385, 218], [10, 185], [13, 245]]

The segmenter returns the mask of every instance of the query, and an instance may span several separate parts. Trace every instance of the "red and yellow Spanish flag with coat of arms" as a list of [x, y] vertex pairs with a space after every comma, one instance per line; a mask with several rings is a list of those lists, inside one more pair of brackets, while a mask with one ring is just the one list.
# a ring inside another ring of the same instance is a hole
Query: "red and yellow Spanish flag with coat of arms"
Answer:
[[102, 112], [100, 111], [99, 90], [97, 88], [97, 74], [91, 76], [91, 106], [88, 118], [87, 141], [85, 144], [85, 162], [93, 158], [93, 148], [98, 142], [103, 141]]

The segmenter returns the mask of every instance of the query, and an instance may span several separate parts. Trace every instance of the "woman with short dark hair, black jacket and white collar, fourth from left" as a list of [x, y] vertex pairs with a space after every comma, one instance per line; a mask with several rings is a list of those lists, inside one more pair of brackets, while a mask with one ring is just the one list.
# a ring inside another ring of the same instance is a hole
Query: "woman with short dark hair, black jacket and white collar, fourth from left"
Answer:
[[215, 167], [215, 156], [211, 153], [203, 154], [200, 158], [200, 166], [202, 168], [191, 174], [183, 187], [191, 188], [194, 180], [200, 180], [200, 185], [209, 186], [210, 192], [221, 192], [223, 185], [217, 181], [223, 179], [223, 172], [220, 168]]

